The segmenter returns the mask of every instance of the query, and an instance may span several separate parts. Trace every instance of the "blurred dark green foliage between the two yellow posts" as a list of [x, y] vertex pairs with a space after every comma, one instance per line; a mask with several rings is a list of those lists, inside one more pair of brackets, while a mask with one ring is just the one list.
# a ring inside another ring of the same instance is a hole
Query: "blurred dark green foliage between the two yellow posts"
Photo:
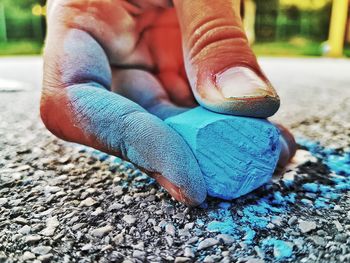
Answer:
[[[306, 37], [310, 40], [326, 40], [329, 31], [331, 2], [329, 0], [320, 1], [290, 0], [287, 2], [294, 4], [282, 5], [279, 0], [256, 0], [256, 40], [258, 42], [288, 41], [295, 36]], [[318, 4], [314, 5], [315, 8], [300, 8], [300, 6], [310, 7], [316, 2]]]

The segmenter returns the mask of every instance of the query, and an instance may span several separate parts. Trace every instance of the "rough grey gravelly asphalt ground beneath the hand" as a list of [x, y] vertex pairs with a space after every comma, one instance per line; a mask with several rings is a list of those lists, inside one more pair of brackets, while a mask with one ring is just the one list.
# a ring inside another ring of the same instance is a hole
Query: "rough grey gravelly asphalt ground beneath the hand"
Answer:
[[350, 262], [350, 61], [261, 62], [296, 160], [245, 197], [188, 208], [131, 164], [52, 136], [40, 59], [0, 60], [0, 79], [34, 86], [0, 91], [0, 262]]

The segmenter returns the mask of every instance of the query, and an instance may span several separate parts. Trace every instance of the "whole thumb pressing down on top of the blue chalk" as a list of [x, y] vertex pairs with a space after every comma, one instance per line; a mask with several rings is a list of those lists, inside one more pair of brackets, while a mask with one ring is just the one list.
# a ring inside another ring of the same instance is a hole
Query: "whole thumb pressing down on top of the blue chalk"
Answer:
[[239, 0], [175, 0], [187, 76], [202, 106], [220, 113], [262, 117], [279, 97], [249, 47]]

